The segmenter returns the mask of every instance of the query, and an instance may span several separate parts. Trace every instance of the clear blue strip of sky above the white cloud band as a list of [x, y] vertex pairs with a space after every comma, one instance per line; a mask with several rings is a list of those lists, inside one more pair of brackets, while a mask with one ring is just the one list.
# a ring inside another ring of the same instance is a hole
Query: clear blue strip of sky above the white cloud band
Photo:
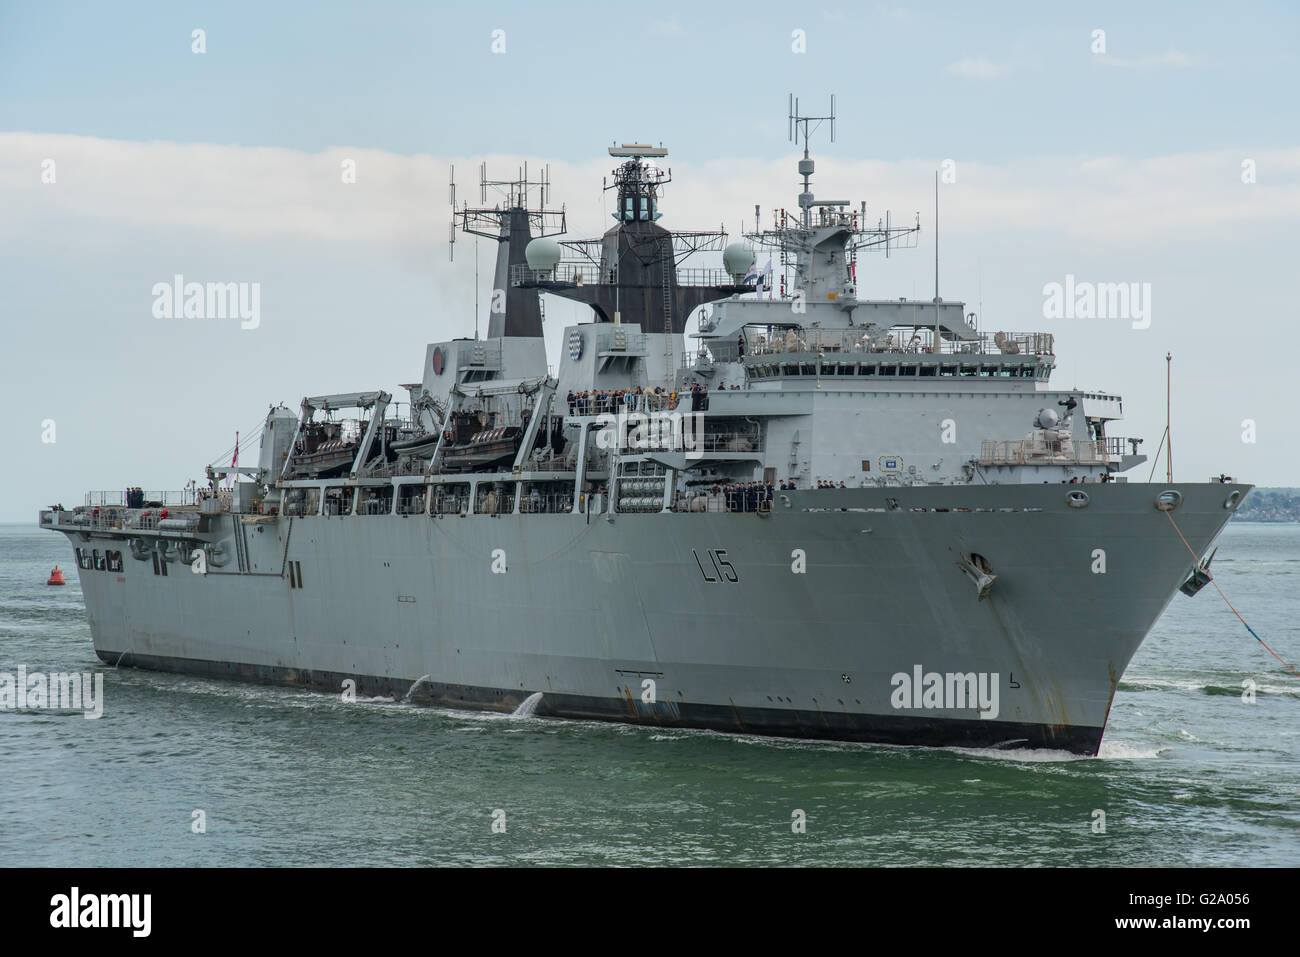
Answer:
[[[1093, 29], [1117, 60], [1196, 65], [1104, 66]], [[580, 160], [623, 116], [710, 155], [774, 157], [772, 104], [797, 88], [806, 104], [836, 92], [841, 150], [880, 159], [954, 142], [991, 161], [1286, 146], [1297, 39], [1300, 8], [1280, 3], [5, 3], [0, 127]], [[967, 57], [1006, 72], [945, 72]]]

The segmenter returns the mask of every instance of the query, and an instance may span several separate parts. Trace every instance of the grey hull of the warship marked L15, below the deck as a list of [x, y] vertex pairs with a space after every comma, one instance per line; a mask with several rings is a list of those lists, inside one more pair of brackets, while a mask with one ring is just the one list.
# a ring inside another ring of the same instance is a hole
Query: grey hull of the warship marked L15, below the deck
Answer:
[[[1182, 498], [1166, 514], [1167, 488]], [[202, 537], [235, 559], [204, 575], [134, 560], [120, 529], [43, 523], [126, 555], [121, 571], [79, 563], [110, 664], [332, 692], [352, 681], [498, 711], [541, 692], [537, 714], [563, 718], [1091, 754], [1124, 667], [1193, 568], [1188, 546], [1202, 554], [1248, 488], [1088, 485], [1084, 507], [1074, 486], [1044, 484], [792, 492], [770, 514], [228, 514]], [[959, 568], [970, 553], [992, 558], [987, 597]], [[988, 676], [994, 705], [900, 706], [898, 676], [914, 672]]]

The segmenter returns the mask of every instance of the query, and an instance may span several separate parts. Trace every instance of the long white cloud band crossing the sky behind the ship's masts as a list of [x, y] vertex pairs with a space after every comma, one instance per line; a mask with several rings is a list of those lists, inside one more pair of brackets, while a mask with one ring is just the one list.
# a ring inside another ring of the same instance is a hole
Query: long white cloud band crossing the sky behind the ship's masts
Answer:
[[[1240, 181], [1249, 155], [1258, 183]], [[57, 183], [40, 182], [42, 161], [57, 164]], [[356, 183], [344, 185], [343, 160]], [[22, 242], [62, 222], [77, 234], [110, 230], [230, 241], [311, 241], [376, 248], [445, 243], [450, 221], [447, 170], [460, 170], [460, 196], [477, 200], [477, 169], [517, 169], [541, 157], [404, 156], [332, 147], [320, 153], [205, 143], [136, 143], [94, 137], [0, 133], [0, 239]], [[663, 209], [672, 228], [707, 228], [796, 208], [793, 159], [718, 159], [675, 163]], [[608, 215], [597, 183], [607, 163], [552, 163], [552, 195], [568, 205], [571, 235], [599, 235]], [[818, 187], [868, 216], [884, 208], [911, 218], [932, 205], [937, 160], [874, 163], [818, 156]], [[958, 181], [945, 187], [945, 233], [997, 228], [1045, 229], [1069, 237], [1140, 243], [1160, 237], [1200, 242], [1200, 230], [1248, 235], [1254, 225], [1300, 216], [1300, 148], [1217, 151], [1147, 159], [1040, 156], [998, 165], [957, 159]], [[491, 204], [489, 198], [489, 205]]]

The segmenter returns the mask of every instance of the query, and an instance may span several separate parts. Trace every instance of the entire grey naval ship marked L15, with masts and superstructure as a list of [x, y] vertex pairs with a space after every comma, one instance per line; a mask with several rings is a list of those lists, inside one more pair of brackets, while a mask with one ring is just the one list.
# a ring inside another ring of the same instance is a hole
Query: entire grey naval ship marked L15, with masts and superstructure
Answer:
[[[1050, 333], [859, 295], [861, 254], [920, 226], [814, 196], [828, 118], [792, 108], [797, 207], [766, 228], [755, 208], [725, 247], [659, 225], [662, 146], [610, 148], [614, 225], [590, 239], [566, 238], [546, 178], [484, 173], [503, 202], [455, 209], [452, 238], [498, 243], [488, 334], [429, 345], [408, 402], [306, 397], [207, 488], [40, 511], [75, 550], [99, 658], [1095, 754], [1126, 666], [1209, 580], [1197, 557], [1251, 486], [1127, 481], [1145, 456], [1113, 433], [1121, 397], [1056, 387]], [[722, 269], [684, 265], [710, 250]], [[592, 309], [554, 367], [543, 294]]]

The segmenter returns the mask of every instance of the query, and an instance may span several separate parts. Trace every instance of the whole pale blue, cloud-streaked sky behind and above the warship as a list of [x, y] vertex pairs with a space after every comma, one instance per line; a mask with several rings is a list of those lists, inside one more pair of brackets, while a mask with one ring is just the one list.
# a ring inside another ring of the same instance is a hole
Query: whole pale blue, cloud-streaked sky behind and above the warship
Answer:
[[[404, 398], [426, 342], [473, 334], [476, 259], [485, 328], [495, 250], [448, 259], [452, 165], [476, 200], [480, 164], [549, 164], [594, 237], [606, 147], [662, 142], [663, 225], [740, 238], [796, 205], [789, 94], [836, 96], [818, 195], [919, 215], [861, 295], [933, 295], [945, 170], [945, 299], [1054, 333], [1053, 385], [1123, 395], [1144, 451], [1173, 354], [1175, 477], [1297, 485], [1294, 363], [1265, 361], [1296, 324], [1297, 38], [1260, 3], [0, 0], [0, 521], [182, 488], [274, 402]], [[177, 274], [257, 283], [256, 328], [156, 317]], [[1046, 316], [1066, 277], [1149, 289], [1149, 324]], [[588, 313], [546, 308], [554, 358]]]

